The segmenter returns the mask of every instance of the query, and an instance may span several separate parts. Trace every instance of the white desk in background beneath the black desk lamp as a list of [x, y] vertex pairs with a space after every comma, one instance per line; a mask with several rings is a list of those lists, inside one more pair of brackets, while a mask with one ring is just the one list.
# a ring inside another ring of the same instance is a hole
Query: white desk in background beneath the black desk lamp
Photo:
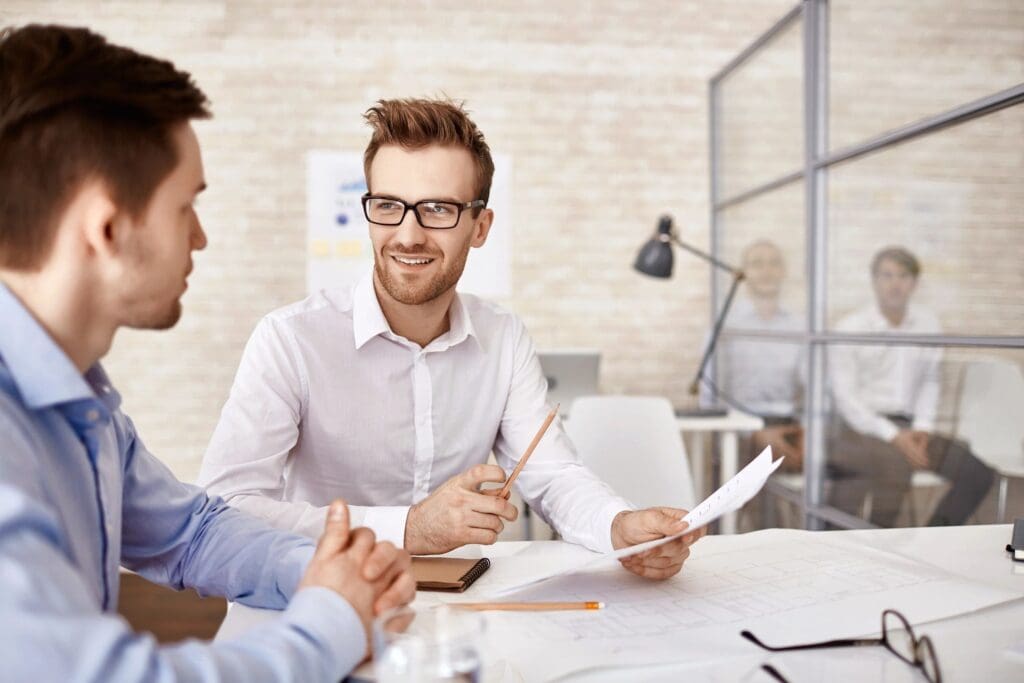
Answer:
[[[712, 492], [703, 490], [705, 485], [705, 439], [708, 432], [718, 434], [719, 455], [721, 464], [719, 467], [719, 477], [712, 488], [717, 488], [733, 476], [739, 468], [739, 432], [752, 432], [762, 429], [765, 421], [756, 415], [743, 413], [735, 409], [729, 409], [726, 415], [721, 416], [682, 416], [677, 417], [679, 430], [683, 435], [689, 435], [689, 444], [686, 452], [689, 454], [690, 471], [693, 483], [696, 485], [696, 498], [698, 501], [706, 498]], [[730, 512], [723, 515], [719, 523], [719, 530], [722, 533], [736, 532], [736, 513]]]

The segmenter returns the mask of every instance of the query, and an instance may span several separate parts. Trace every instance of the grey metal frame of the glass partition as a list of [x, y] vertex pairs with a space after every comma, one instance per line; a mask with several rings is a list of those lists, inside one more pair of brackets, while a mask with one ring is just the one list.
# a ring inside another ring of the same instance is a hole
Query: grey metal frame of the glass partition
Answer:
[[[828, 150], [828, 0], [801, 0], [771, 28], [748, 45], [709, 83], [710, 175], [711, 175], [711, 253], [721, 256], [721, 214], [729, 207], [751, 201], [791, 183], [803, 181], [805, 198], [807, 328], [804, 333], [729, 331], [731, 338], [774, 338], [805, 345], [807, 353], [807, 391], [804, 419], [807, 428], [807, 452], [804, 462], [802, 508], [805, 525], [820, 528], [825, 521], [844, 526], [862, 526], [854, 518], [822, 503], [825, 466], [825, 353], [837, 344], [920, 344], [929, 346], [1024, 349], [1024, 337], [1010, 335], [907, 335], [894, 338], [880, 334], [843, 334], [828, 332], [827, 319], [827, 244], [828, 198], [827, 173], [831, 166], [893, 147], [944, 128], [993, 114], [1002, 109], [1024, 104], [1024, 83], [955, 106], [934, 116], [835, 152]], [[722, 86], [735, 71], [771, 43], [794, 22], [803, 22], [804, 77], [804, 165], [766, 182], [723, 198], [721, 189], [721, 112]], [[717, 273], [711, 274], [711, 323], [719, 308], [721, 291]], [[717, 381], [717, 367], [711, 372]], [[790, 497], [793, 498], [792, 496]], [[869, 526], [870, 524], [866, 524]]]

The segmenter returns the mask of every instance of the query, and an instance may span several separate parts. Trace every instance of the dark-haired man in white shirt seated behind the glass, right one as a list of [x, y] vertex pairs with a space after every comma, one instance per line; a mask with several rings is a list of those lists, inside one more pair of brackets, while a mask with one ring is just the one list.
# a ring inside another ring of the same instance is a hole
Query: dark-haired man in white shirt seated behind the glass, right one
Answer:
[[[889, 247], [871, 261], [876, 303], [839, 322], [851, 333], [938, 334], [939, 321], [911, 306], [921, 276], [916, 257]], [[914, 470], [928, 469], [951, 487], [930, 525], [963, 524], [991, 486], [994, 473], [963, 441], [934, 433], [942, 351], [928, 346], [838, 345], [829, 348], [831, 393], [839, 424], [828, 442], [839, 478], [833, 505], [859, 515], [871, 494], [870, 522], [892, 526]]]

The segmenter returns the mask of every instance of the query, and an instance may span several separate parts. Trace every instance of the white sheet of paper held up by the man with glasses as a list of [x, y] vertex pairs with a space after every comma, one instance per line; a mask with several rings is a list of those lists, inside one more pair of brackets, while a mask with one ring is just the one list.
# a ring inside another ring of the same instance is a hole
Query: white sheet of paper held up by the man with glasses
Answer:
[[718, 490], [701, 501], [699, 505], [690, 510], [689, 513], [683, 517], [683, 519], [689, 522], [689, 526], [686, 527], [686, 530], [682, 533], [665, 537], [664, 539], [656, 539], [654, 541], [648, 541], [647, 543], [637, 544], [628, 548], [621, 548], [620, 550], [605, 553], [603, 555], [591, 554], [581, 559], [572, 558], [572, 561], [562, 563], [557, 567], [551, 567], [548, 565], [540, 568], [531, 568], [531, 570], [525, 574], [520, 574], [519, 581], [499, 588], [498, 595], [512, 593], [526, 588], [527, 586], [532, 586], [535, 584], [548, 581], [549, 579], [554, 579], [555, 577], [581, 571], [609, 561], [618, 560], [623, 557], [636, 555], [637, 553], [642, 553], [651, 548], [657, 548], [658, 546], [665, 545], [670, 541], [703, 528], [722, 515], [738, 510], [748, 501], [754, 498], [765, 485], [765, 481], [768, 480], [771, 473], [778, 469], [778, 466], [782, 464], [782, 458], [779, 458], [778, 460], [772, 462], [771, 446], [769, 445], [766, 447], [760, 453], [760, 455], [758, 455], [757, 458], [752, 460], [746, 467], [739, 470], [739, 472], [736, 473], [736, 476], [722, 484]]

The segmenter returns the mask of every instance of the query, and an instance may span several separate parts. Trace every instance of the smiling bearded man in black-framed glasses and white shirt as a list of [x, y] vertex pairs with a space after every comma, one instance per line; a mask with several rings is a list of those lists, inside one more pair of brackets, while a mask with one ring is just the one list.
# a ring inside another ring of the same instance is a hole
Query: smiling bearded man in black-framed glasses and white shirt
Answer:
[[[414, 554], [490, 544], [518, 511], [481, 485], [505, 480], [549, 410], [519, 318], [456, 292], [494, 218], [490, 152], [451, 101], [382, 100], [366, 118], [374, 268], [348, 291], [319, 292], [259, 324], [200, 479], [309, 536], [323, 527], [323, 506], [344, 496], [353, 523]], [[485, 464], [492, 452], [502, 467]], [[682, 510], [631, 510], [558, 424], [516, 485], [563, 538], [594, 550], [685, 528]], [[624, 564], [671, 577], [699, 536]]]

